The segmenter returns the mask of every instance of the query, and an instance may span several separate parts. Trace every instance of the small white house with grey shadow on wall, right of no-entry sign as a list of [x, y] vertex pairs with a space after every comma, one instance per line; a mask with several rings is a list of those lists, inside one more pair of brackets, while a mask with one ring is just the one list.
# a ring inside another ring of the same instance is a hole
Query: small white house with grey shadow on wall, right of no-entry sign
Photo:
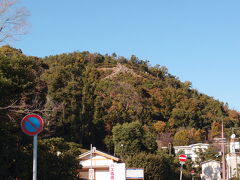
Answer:
[[202, 180], [221, 180], [221, 167], [220, 162], [215, 160], [208, 160], [202, 165]]

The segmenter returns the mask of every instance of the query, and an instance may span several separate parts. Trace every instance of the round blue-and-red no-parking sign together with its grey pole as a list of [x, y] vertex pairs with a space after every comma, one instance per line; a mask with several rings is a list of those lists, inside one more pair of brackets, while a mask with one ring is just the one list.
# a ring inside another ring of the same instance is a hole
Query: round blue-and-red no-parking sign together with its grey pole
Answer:
[[37, 180], [37, 135], [43, 130], [43, 119], [29, 114], [23, 118], [21, 128], [25, 134], [33, 136], [33, 180]]

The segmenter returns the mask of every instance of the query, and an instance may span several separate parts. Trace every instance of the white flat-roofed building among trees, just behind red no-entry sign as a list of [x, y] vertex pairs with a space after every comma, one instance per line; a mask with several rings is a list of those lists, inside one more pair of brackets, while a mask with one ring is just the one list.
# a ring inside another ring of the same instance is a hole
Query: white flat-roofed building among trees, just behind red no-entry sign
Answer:
[[183, 152], [183, 154], [187, 155], [188, 158], [191, 158], [193, 161], [197, 158], [197, 153], [199, 150], [206, 151], [208, 149], [209, 144], [205, 143], [197, 143], [191, 144], [189, 146], [174, 146], [175, 154], [179, 152]]

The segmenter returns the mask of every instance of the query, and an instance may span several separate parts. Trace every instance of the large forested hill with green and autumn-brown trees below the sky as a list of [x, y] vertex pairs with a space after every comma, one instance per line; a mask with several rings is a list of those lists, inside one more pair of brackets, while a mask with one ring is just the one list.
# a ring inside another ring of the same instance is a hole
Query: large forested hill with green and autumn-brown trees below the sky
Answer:
[[184, 132], [183, 144], [218, 136], [222, 120], [226, 130], [239, 127], [238, 112], [135, 56], [73, 52], [37, 58], [3, 46], [0, 89], [4, 127], [10, 123], [20, 131], [22, 117], [37, 113], [45, 120], [42, 138], [62, 137], [85, 148], [92, 143], [109, 152], [118, 124], [137, 122], [155, 137]]

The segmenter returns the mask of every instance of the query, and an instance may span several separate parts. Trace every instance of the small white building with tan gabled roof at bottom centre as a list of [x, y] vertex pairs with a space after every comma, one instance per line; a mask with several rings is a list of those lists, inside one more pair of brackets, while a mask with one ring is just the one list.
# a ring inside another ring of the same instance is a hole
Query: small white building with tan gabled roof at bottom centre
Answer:
[[[79, 156], [82, 169], [79, 178], [82, 180], [125, 180], [125, 163], [117, 157], [96, 150], [88, 151]], [[91, 170], [90, 170], [91, 169]]]

